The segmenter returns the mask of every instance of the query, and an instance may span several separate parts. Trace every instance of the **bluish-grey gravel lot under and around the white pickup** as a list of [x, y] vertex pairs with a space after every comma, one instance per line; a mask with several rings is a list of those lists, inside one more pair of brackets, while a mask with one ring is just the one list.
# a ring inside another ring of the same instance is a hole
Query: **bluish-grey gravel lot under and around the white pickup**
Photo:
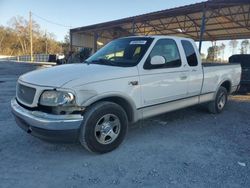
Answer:
[[96, 155], [16, 126], [16, 80], [36, 68], [0, 62], [0, 187], [250, 187], [250, 96], [231, 97], [220, 115], [192, 107], [145, 120]]

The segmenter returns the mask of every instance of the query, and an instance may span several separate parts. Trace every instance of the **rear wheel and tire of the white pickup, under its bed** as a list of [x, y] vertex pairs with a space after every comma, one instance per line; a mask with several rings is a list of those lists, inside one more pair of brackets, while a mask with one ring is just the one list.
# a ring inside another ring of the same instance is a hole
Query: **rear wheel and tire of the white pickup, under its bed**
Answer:
[[216, 93], [215, 100], [211, 101], [208, 104], [209, 112], [211, 112], [213, 114], [221, 113], [227, 104], [227, 100], [228, 100], [227, 90], [226, 90], [226, 88], [220, 86], [220, 88], [218, 89], [218, 91]]

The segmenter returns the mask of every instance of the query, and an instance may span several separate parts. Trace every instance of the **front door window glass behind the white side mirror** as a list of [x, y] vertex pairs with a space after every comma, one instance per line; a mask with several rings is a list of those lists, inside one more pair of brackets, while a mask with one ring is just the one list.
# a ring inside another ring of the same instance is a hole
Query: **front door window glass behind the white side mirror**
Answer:
[[[154, 56], [163, 56], [164, 65], [151, 65], [150, 60]], [[144, 69], [174, 68], [181, 66], [179, 49], [173, 39], [160, 39], [156, 42], [144, 64]]]

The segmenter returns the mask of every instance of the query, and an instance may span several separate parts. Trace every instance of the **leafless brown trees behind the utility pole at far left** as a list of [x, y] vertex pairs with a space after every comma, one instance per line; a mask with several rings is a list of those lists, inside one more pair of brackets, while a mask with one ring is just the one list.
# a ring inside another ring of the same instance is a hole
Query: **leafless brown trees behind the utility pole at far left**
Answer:
[[[34, 54], [46, 53], [46, 44], [50, 54], [61, 53], [61, 43], [55, 40], [55, 35], [47, 33], [45, 36], [39, 24], [35, 20], [32, 22]], [[30, 54], [29, 22], [26, 19], [20, 16], [13, 17], [8, 22], [8, 27], [0, 27], [0, 54]]]

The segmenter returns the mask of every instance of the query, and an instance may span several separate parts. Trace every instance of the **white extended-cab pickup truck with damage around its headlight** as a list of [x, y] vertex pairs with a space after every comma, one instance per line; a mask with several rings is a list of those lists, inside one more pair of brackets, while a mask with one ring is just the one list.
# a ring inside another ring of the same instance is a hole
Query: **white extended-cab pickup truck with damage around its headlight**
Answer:
[[202, 65], [191, 39], [133, 36], [81, 64], [20, 76], [11, 107], [17, 124], [34, 136], [74, 139], [105, 153], [143, 118], [201, 103], [222, 112], [240, 77], [239, 64]]

